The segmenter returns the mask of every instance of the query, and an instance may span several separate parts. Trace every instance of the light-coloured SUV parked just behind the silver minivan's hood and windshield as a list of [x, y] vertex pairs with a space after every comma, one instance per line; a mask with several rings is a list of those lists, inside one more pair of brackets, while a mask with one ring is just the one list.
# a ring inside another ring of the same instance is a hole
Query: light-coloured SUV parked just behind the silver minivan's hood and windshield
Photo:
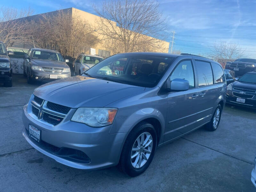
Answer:
[[97, 55], [87, 55], [84, 53], [81, 53], [77, 60], [74, 63], [74, 75], [81, 75], [86, 71], [87, 69], [91, 68], [95, 64], [102, 61], [103, 58]]

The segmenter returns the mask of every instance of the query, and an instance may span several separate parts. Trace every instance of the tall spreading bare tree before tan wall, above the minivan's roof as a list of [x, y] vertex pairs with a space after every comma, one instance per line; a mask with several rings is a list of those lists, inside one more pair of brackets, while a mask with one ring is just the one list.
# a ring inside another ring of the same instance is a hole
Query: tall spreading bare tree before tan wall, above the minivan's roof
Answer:
[[[164, 47], [164, 20], [155, 0], [111, 0], [102, 8], [94, 6], [100, 16], [96, 31], [112, 53], [167, 51]], [[154, 37], [154, 38], [153, 38]]]

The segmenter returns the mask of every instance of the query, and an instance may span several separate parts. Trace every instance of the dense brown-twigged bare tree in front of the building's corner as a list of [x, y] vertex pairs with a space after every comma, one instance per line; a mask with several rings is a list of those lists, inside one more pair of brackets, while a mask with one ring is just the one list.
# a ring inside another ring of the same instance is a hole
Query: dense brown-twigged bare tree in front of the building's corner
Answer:
[[55, 14], [42, 14], [34, 28], [38, 47], [55, 49], [63, 56], [72, 58], [98, 42], [88, 21], [76, 13], [58, 11]]

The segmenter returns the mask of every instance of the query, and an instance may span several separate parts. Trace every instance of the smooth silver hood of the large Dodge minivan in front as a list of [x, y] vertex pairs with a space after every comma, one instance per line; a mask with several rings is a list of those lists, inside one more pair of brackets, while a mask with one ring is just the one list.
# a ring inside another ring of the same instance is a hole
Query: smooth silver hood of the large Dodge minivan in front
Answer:
[[44, 100], [71, 108], [104, 107], [116, 100], [143, 92], [145, 87], [84, 76], [73, 76], [44, 84], [34, 94]]

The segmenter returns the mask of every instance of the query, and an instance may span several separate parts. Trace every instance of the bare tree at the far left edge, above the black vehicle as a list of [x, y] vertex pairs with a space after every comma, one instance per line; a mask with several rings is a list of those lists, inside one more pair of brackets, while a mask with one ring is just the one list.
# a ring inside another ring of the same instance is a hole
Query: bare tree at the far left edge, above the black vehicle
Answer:
[[29, 21], [24, 17], [30, 16], [31, 9], [20, 9], [9, 7], [0, 8], [0, 41], [6, 46], [14, 43], [25, 42], [30, 39], [31, 31], [28, 28]]

